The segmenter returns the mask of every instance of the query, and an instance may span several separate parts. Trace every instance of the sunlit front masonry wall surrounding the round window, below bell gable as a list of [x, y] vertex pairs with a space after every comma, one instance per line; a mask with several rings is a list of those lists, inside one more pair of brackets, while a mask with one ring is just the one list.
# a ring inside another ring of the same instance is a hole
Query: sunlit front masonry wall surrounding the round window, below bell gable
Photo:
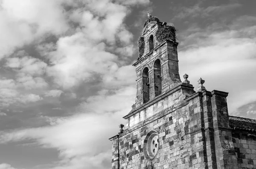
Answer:
[[[180, 85], [181, 86], [181, 85]], [[194, 93], [191, 87], [178, 86], [175, 92], [128, 118], [124, 133], [119, 136], [120, 169], [203, 169], [206, 152], [202, 132], [190, 133], [200, 122], [200, 97], [186, 102], [185, 97]], [[175, 89], [174, 89], [175, 90]], [[194, 112], [195, 117], [192, 117]], [[192, 118], [191, 118], [192, 117]], [[190, 122], [192, 120], [192, 123]], [[201, 125], [198, 125], [201, 129]], [[159, 133], [159, 151], [152, 161], [143, 153], [143, 141], [151, 130]]]

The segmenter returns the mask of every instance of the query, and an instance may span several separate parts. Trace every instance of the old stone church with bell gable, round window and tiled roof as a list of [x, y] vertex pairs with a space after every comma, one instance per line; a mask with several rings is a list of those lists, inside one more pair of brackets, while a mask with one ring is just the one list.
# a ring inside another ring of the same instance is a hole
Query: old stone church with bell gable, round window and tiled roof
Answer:
[[256, 169], [256, 120], [228, 114], [227, 92], [180, 79], [176, 29], [148, 14], [137, 95], [112, 141], [112, 169]]

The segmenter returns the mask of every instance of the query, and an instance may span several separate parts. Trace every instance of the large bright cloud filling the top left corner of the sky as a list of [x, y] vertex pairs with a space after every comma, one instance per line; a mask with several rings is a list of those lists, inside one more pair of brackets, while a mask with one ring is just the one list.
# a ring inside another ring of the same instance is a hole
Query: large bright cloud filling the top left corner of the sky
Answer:
[[[2, 0], [0, 30], [0, 57], [10, 54], [16, 47], [31, 43], [48, 32], [62, 34], [69, 26], [62, 3], [65, 0]], [[24, 10], [26, 9], [26, 10]]]

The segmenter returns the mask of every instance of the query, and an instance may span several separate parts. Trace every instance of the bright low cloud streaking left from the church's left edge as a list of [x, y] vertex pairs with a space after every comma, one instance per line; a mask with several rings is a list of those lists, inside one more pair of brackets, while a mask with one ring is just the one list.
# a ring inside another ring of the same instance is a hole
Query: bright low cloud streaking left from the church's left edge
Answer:
[[2, 132], [0, 142], [32, 139], [41, 147], [58, 149], [62, 160], [54, 169], [110, 167], [102, 164], [104, 160], [111, 160], [108, 138], [118, 132], [120, 119], [131, 110], [135, 89], [127, 87], [111, 93], [103, 90], [89, 97], [80, 106], [80, 110], [87, 113], [65, 118], [47, 117], [51, 126]]

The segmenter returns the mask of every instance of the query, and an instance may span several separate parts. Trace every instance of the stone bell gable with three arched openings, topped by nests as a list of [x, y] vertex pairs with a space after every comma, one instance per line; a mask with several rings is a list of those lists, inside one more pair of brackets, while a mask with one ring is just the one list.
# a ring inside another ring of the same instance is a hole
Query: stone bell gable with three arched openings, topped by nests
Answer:
[[[140, 49], [140, 56], [133, 64], [137, 73], [135, 107], [181, 83], [175, 31], [173, 26], [167, 26], [156, 17], [149, 17], [146, 21], [138, 41], [139, 48], [143, 49]], [[167, 38], [161, 37], [163, 32]]]

